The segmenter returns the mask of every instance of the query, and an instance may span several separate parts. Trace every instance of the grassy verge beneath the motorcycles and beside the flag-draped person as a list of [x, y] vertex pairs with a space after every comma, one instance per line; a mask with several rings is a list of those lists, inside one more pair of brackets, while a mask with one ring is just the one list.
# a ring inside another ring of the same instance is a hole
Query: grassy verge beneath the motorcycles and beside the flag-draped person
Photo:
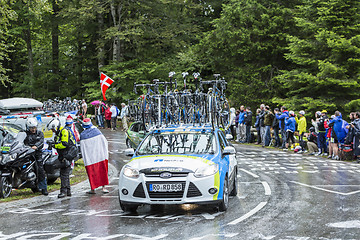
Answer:
[[[75, 167], [72, 171], [71, 178], [70, 178], [70, 184], [77, 184], [82, 181], [85, 181], [87, 179], [87, 174], [85, 170], [85, 165], [82, 159], [79, 159], [75, 162]], [[53, 184], [48, 185], [48, 192], [57, 191], [60, 189], [60, 178], [58, 178]], [[10, 197], [5, 199], [0, 199], [0, 202], [10, 202], [25, 198], [31, 198], [41, 195], [41, 193], [33, 193], [30, 188], [26, 189], [13, 189], [11, 192]]]

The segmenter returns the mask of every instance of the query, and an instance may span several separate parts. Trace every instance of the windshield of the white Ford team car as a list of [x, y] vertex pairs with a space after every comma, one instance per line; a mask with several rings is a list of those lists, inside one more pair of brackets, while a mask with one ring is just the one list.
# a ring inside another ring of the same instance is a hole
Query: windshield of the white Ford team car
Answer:
[[214, 154], [215, 136], [212, 133], [153, 133], [138, 149], [147, 154]]

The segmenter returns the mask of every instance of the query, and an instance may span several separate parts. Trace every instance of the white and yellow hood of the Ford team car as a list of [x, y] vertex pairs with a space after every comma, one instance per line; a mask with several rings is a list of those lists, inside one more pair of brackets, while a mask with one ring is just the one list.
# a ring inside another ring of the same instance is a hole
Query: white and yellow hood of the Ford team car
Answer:
[[134, 157], [127, 165], [142, 172], [195, 172], [213, 163], [214, 156], [151, 155]]

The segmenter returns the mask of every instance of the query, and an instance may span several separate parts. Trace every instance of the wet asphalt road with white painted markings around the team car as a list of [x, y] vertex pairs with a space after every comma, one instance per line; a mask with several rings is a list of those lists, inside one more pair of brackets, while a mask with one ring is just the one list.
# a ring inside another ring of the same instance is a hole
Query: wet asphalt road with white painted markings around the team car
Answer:
[[109, 141], [109, 194], [58, 192], [0, 203], [1, 239], [360, 239], [360, 165], [236, 145], [238, 194], [225, 212], [212, 206], [119, 206], [117, 174], [130, 160], [123, 132]]

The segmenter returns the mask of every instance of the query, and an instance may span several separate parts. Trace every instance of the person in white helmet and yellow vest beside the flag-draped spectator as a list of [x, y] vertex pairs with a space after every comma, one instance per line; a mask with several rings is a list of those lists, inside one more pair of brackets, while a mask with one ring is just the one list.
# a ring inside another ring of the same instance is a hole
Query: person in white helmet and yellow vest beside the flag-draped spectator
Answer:
[[61, 163], [60, 167], [60, 194], [58, 198], [63, 198], [66, 196], [71, 196], [70, 190], [70, 171], [71, 163], [73, 159], [77, 156], [78, 151], [75, 145], [75, 139], [70, 131], [62, 127], [60, 121], [56, 118], [52, 119], [48, 125], [48, 130], [51, 130], [55, 133], [54, 137], [54, 147], [59, 154], [59, 161]]

